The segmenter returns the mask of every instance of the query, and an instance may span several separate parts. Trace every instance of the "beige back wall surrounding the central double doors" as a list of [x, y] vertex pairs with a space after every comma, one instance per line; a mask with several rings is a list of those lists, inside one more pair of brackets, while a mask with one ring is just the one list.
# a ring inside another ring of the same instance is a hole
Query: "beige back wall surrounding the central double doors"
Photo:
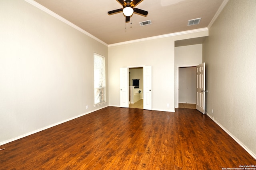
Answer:
[[174, 112], [173, 38], [110, 46], [108, 57], [110, 106], [120, 106], [121, 67], [152, 66], [152, 109]]

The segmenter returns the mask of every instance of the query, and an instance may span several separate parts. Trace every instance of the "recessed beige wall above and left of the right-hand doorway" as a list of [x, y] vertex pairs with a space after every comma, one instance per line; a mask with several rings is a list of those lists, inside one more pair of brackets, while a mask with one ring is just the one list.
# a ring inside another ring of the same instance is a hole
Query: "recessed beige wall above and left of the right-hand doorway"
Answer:
[[175, 47], [174, 82], [175, 107], [178, 107], [178, 66], [195, 66], [202, 63], [202, 44]]

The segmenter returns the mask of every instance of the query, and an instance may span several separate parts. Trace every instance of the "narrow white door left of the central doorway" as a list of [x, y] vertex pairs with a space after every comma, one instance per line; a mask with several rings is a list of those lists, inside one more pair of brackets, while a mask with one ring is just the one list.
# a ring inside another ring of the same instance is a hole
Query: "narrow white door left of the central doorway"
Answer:
[[120, 107], [129, 107], [128, 68], [120, 68]]

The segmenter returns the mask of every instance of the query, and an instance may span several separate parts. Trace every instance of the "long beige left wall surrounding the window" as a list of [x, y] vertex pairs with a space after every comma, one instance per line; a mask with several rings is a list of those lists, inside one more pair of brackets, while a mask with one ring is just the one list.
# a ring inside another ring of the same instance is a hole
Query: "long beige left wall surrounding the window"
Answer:
[[0, 38], [0, 144], [108, 106], [93, 107], [107, 46], [23, 0], [0, 1]]

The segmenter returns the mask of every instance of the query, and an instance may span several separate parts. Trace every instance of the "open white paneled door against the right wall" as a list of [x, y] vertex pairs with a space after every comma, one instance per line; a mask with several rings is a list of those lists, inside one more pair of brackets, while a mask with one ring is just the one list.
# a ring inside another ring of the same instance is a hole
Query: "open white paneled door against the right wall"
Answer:
[[205, 62], [196, 66], [196, 109], [205, 110]]

